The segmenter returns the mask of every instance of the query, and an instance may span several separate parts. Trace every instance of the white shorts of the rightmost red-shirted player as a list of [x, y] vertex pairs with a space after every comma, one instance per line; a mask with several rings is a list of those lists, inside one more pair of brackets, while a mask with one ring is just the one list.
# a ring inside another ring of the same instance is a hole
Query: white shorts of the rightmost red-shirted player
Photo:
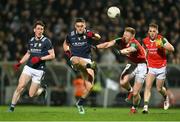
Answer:
[[148, 69], [149, 69], [148, 74], [149, 73], [153, 74], [156, 76], [157, 79], [160, 79], [160, 80], [166, 79], [166, 66], [162, 68], [149, 67]]

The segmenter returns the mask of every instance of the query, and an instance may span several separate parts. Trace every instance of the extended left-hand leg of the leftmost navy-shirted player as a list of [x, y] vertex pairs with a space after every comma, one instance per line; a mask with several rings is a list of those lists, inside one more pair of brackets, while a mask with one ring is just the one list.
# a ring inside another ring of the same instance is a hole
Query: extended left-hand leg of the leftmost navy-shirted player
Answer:
[[9, 108], [9, 112], [13, 112], [15, 105], [17, 104], [22, 92], [24, 91], [27, 83], [30, 81], [31, 76], [27, 75], [25, 73], [22, 73], [20, 78], [19, 78], [19, 83], [18, 86], [16, 88], [16, 90], [14, 91], [13, 97], [12, 97], [12, 102]]

